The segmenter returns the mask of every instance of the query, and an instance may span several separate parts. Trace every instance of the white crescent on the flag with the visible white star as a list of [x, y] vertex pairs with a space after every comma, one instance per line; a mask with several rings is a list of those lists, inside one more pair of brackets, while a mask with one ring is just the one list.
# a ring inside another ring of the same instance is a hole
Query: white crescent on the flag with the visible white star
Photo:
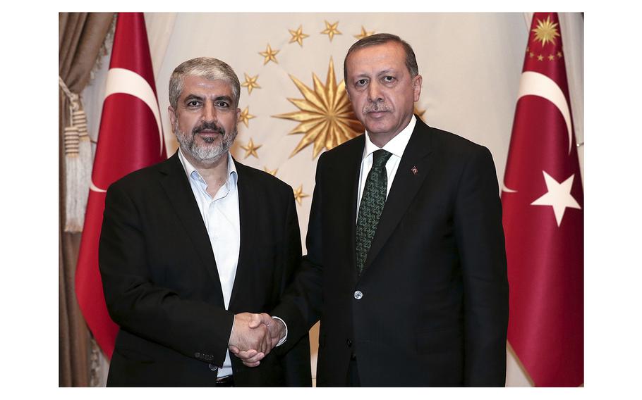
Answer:
[[517, 101], [519, 101], [523, 96], [528, 95], [540, 96], [547, 99], [559, 109], [560, 113], [562, 113], [564, 121], [567, 123], [567, 132], [569, 133], [569, 154], [571, 154], [571, 145], [573, 143], [571, 140], [571, 135], [573, 135], [573, 130], [571, 130], [571, 111], [569, 110], [569, 104], [567, 103], [567, 98], [564, 97], [562, 89], [560, 89], [559, 85], [557, 85], [554, 80], [550, 79], [550, 77], [540, 73], [526, 71], [521, 74]]

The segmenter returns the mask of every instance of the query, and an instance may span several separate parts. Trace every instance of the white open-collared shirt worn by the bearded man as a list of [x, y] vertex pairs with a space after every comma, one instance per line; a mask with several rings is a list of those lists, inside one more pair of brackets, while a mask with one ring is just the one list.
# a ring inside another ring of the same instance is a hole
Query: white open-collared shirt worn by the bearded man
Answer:
[[[212, 198], [207, 193], [207, 183], [198, 170], [183, 156], [183, 150], [178, 151], [178, 158], [183, 164], [192, 187], [192, 192], [198, 204], [200, 215], [205, 223], [207, 235], [214, 251], [214, 259], [219, 270], [219, 280], [223, 290], [225, 309], [229, 307], [229, 299], [234, 287], [238, 251], [241, 246], [241, 222], [238, 212], [238, 173], [231, 154], [227, 154], [227, 180]], [[231, 332], [230, 332], [231, 334]], [[218, 376], [232, 375], [232, 363], [229, 351], [226, 352], [223, 367]]]

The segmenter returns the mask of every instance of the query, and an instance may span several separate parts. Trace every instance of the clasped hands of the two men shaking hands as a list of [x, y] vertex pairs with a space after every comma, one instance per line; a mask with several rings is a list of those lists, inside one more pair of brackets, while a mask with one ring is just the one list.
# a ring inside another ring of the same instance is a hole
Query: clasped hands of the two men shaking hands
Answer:
[[285, 325], [266, 313], [234, 315], [229, 337], [229, 351], [241, 358], [243, 364], [255, 367], [285, 336]]

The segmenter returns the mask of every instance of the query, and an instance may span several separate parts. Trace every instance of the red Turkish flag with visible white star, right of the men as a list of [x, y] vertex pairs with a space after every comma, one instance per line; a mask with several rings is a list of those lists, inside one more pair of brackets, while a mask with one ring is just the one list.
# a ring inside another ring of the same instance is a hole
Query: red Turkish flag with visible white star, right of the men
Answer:
[[535, 13], [502, 188], [508, 341], [535, 386], [584, 381], [584, 196], [557, 13]]

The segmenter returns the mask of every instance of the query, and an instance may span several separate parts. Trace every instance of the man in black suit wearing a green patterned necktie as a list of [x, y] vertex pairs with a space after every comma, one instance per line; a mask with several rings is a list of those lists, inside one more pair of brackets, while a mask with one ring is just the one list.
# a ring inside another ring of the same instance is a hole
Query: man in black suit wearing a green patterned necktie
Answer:
[[288, 346], [321, 320], [317, 386], [503, 386], [508, 282], [490, 151], [413, 115], [422, 77], [395, 35], [353, 44], [344, 79], [366, 132], [319, 158], [308, 255], [272, 310], [286, 324], [271, 323], [273, 340]]

